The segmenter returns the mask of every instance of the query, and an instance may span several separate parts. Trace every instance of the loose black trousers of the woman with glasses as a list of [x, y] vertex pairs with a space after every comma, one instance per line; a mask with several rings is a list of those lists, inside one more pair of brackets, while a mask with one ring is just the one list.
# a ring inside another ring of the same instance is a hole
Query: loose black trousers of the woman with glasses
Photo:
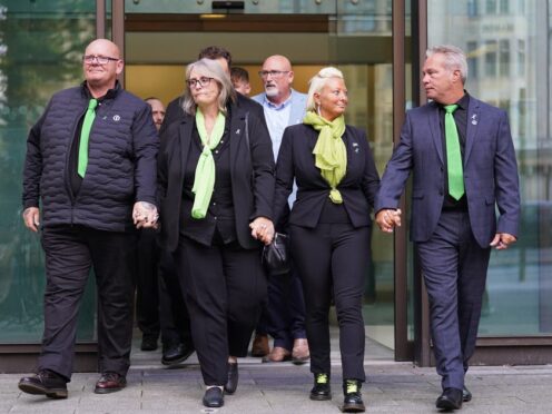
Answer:
[[228, 379], [228, 356], [246, 356], [266, 276], [260, 250], [237, 243], [205, 246], [181, 236], [175, 259], [206, 385]]

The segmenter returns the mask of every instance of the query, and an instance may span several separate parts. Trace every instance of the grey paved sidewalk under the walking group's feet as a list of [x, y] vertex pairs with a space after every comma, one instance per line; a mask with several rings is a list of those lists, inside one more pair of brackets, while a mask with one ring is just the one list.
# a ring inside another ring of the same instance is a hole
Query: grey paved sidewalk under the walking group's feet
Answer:
[[[438, 412], [434, 403], [440, 393], [440, 378], [434, 368], [394, 363], [385, 355], [374, 353], [372, 344], [367, 348], [371, 348], [366, 353], [367, 383], [363, 387], [367, 413]], [[204, 388], [195, 354], [178, 368], [166, 368], [159, 359], [160, 352], [135, 352], [128, 387], [108, 395], [92, 392], [98, 374], [75, 374], [69, 384], [69, 398], [57, 401], [21, 393], [17, 387], [20, 374], [0, 375], [0, 413], [341, 412], [342, 377], [336, 352], [332, 353], [332, 401], [308, 400], [312, 386], [308, 364], [262, 364], [258, 358], [248, 357], [239, 359], [236, 394], [226, 396], [225, 406], [218, 410], [201, 405]], [[473, 367], [466, 384], [474, 396], [461, 413], [552, 413], [552, 365]]]

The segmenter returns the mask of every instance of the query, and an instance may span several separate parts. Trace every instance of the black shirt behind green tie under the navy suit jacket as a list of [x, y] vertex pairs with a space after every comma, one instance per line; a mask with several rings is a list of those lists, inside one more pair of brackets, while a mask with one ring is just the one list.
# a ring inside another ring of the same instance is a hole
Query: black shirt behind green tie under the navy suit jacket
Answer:
[[[456, 102], [459, 106], [456, 110], [453, 112], [454, 121], [456, 122], [456, 129], [459, 130], [459, 139], [460, 139], [460, 151], [462, 154], [462, 164], [464, 164], [464, 152], [465, 152], [465, 141], [466, 141], [466, 131], [467, 131], [467, 107], [470, 105], [470, 95], [467, 92]], [[447, 175], [447, 162], [446, 162], [446, 137], [445, 137], [445, 109], [443, 106], [440, 106], [438, 111], [438, 124], [441, 127], [441, 137], [443, 142], [443, 161], [445, 165], [445, 199], [443, 203], [444, 209], [467, 209], [467, 201], [465, 194], [461, 197], [460, 200], [455, 200], [448, 194], [448, 175]]]

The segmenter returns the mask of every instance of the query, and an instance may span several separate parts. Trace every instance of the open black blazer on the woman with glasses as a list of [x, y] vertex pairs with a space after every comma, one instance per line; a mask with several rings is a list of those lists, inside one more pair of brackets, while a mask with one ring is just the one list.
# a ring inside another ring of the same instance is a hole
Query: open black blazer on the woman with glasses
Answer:
[[[235, 105], [230, 107], [230, 180], [238, 243], [244, 248], [257, 248], [259, 241], [250, 235], [249, 223], [256, 217], [272, 219], [274, 196], [274, 156], [270, 137], [256, 116]], [[184, 189], [185, 162], [191, 145], [195, 117], [185, 115], [161, 134], [158, 181], [161, 218], [161, 243], [169, 252], [178, 246], [181, 225], [180, 207]]]

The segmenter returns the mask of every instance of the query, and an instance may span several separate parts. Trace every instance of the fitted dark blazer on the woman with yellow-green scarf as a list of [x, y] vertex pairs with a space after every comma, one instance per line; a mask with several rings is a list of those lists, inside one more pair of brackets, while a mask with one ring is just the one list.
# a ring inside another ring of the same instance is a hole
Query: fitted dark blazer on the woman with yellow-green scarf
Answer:
[[[276, 219], [285, 214], [287, 197], [292, 193], [295, 178], [298, 190], [289, 224], [303, 227], [315, 227], [318, 224], [331, 188], [315, 166], [313, 149], [317, 139], [318, 131], [304, 124], [287, 127], [284, 131], [276, 166]], [[347, 170], [337, 189], [342, 194], [352, 225], [369, 226], [369, 211], [379, 188], [374, 157], [366, 135], [361, 129], [347, 126], [344, 141], [347, 148]]]

